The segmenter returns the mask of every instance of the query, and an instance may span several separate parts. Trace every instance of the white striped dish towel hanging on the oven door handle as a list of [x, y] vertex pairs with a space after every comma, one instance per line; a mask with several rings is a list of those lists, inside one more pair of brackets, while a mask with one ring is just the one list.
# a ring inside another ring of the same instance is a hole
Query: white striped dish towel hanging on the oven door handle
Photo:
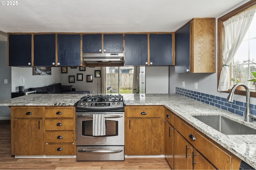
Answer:
[[106, 125], [105, 125], [105, 114], [93, 114], [92, 119], [92, 135], [93, 136], [104, 136], [106, 135]]

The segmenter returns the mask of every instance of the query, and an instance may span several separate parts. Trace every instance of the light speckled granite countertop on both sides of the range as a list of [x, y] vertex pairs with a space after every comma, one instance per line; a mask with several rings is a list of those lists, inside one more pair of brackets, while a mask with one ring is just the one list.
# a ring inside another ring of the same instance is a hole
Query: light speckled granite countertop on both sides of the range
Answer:
[[[30, 94], [0, 101], [0, 106], [74, 106], [86, 94]], [[256, 168], [256, 135], [224, 135], [192, 115], [223, 115], [256, 129], [256, 121], [178, 94], [122, 94], [126, 106], [164, 105], [210, 139]]]

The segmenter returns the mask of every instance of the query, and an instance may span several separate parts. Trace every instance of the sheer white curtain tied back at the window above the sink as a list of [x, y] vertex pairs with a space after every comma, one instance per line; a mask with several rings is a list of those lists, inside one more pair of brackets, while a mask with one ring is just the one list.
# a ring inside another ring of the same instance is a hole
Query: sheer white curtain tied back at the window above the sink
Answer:
[[243, 12], [237, 16], [233, 16], [227, 21], [223, 22], [225, 29], [225, 37], [224, 37], [224, 51], [223, 51], [223, 66], [220, 73], [220, 81], [218, 86], [219, 92], [228, 91], [228, 87], [230, 84], [230, 73], [229, 73], [229, 65], [231, 61], [234, 59], [236, 51], [244, 36], [250, 27], [250, 23], [252, 22], [252, 18], [255, 13], [255, 8]]

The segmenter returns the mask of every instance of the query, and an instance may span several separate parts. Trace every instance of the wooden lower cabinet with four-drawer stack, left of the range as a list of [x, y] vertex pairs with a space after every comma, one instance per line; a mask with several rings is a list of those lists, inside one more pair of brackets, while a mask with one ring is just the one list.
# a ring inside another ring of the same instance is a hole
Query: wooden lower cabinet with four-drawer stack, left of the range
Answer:
[[12, 155], [75, 155], [74, 106], [11, 106]]

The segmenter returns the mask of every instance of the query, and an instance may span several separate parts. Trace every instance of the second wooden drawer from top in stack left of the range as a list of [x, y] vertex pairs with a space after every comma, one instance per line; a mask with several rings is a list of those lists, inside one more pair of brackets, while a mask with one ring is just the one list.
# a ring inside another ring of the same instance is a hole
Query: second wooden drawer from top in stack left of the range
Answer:
[[68, 131], [74, 130], [74, 119], [46, 119], [46, 131]]

